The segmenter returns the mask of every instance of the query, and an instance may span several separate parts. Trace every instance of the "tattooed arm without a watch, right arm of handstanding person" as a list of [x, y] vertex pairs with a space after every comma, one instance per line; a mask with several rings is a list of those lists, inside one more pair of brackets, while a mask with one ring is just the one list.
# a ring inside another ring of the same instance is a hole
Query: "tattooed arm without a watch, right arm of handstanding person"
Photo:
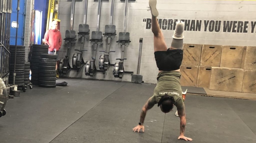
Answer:
[[177, 107], [178, 110], [178, 115], [180, 118], [180, 135], [178, 137], [178, 139], [184, 139], [186, 141], [192, 141], [191, 138], [185, 137], [184, 133], [185, 133], [185, 126], [186, 126], [186, 113], [185, 113], [185, 105], [183, 103], [182, 106]]

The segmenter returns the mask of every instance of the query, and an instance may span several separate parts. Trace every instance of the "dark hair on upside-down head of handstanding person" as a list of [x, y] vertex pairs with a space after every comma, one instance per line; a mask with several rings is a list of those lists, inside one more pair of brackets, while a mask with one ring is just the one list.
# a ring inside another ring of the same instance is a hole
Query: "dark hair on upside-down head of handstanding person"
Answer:
[[172, 96], [165, 94], [159, 100], [157, 107], [159, 107], [162, 104], [163, 111], [169, 112], [171, 109], [173, 109], [174, 103], [175, 103], [174, 98]]

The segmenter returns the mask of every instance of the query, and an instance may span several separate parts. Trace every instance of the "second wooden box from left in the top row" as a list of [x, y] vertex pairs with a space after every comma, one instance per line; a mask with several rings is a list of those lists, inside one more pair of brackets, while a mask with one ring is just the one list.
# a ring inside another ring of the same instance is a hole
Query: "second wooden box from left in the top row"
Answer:
[[221, 45], [203, 45], [200, 66], [220, 67]]

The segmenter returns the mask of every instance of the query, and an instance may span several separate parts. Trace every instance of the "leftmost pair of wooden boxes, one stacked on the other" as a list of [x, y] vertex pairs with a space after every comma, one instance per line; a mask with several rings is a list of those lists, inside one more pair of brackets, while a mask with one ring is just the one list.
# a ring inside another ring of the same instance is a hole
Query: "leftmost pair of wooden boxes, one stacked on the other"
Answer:
[[196, 87], [201, 50], [202, 45], [200, 44], [183, 45], [183, 60], [180, 66], [180, 84], [182, 86]]

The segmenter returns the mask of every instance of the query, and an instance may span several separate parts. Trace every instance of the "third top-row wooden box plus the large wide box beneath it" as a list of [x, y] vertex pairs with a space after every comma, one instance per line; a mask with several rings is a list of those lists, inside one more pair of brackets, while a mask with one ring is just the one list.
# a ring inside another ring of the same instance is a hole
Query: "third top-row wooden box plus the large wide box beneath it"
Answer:
[[220, 67], [212, 67], [210, 90], [242, 92], [243, 46], [222, 46]]

